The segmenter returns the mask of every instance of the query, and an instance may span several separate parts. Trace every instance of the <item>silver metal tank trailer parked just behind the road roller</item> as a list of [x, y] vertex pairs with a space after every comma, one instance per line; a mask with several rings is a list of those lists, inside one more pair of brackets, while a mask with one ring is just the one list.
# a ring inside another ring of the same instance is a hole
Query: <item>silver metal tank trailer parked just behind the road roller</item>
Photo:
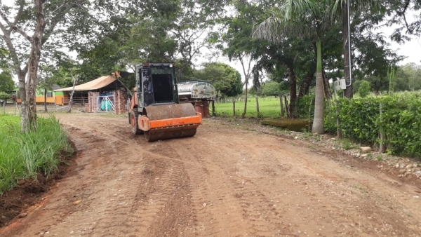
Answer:
[[215, 87], [208, 81], [178, 81], [178, 99], [180, 103], [192, 103], [196, 112], [209, 117], [209, 102], [216, 97]]

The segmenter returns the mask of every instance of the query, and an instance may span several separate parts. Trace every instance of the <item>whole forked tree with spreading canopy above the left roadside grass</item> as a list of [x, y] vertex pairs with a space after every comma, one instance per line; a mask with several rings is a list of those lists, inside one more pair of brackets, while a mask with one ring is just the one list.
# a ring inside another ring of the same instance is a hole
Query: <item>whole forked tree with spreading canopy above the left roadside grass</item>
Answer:
[[[139, 5], [137, 0], [15, 0], [12, 6], [0, 3], [0, 43], [7, 47], [18, 76], [22, 131], [36, 128], [37, 73], [41, 56], [46, 56], [42, 53], [55, 55], [60, 47], [72, 46], [74, 50], [92, 43], [99, 34], [119, 27], [122, 15], [137, 13], [133, 6]], [[51, 38], [54, 41], [49, 41]]]

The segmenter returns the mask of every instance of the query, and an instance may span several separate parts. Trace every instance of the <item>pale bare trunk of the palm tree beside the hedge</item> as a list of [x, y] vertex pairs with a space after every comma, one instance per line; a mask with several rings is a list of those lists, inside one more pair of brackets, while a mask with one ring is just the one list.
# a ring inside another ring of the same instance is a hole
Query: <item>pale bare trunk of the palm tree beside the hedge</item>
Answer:
[[312, 133], [323, 134], [323, 75], [321, 71], [321, 40], [317, 39], [316, 99]]

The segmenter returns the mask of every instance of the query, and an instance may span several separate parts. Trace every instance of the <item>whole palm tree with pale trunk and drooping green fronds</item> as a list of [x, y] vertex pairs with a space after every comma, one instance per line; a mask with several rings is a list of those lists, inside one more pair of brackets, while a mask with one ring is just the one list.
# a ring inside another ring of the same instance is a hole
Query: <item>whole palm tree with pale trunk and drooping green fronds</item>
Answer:
[[[339, 1], [339, 0], [337, 0]], [[333, 2], [329, 0], [288, 0], [279, 8], [268, 11], [267, 18], [255, 27], [253, 36], [270, 41], [286, 37], [314, 37], [317, 48], [316, 99], [312, 133], [323, 134], [323, 76], [321, 37], [335, 19]]]

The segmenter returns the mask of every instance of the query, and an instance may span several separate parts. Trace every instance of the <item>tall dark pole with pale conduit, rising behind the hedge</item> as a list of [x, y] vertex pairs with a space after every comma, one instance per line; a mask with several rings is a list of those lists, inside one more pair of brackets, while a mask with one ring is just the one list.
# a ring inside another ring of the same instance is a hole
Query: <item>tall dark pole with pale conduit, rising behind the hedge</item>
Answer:
[[[349, 1], [349, 0], [347, 0]], [[347, 1], [342, 1], [342, 52], [344, 52], [344, 76], [345, 76], [345, 82], [347, 85], [351, 84], [350, 86], [347, 86], [347, 88], [344, 90], [344, 95], [347, 98], [352, 98], [352, 79], [351, 79], [351, 70], [352, 68], [349, 67], [349, 45], [350, 43], [348, 41], [348, 8], [347, 8]]]

